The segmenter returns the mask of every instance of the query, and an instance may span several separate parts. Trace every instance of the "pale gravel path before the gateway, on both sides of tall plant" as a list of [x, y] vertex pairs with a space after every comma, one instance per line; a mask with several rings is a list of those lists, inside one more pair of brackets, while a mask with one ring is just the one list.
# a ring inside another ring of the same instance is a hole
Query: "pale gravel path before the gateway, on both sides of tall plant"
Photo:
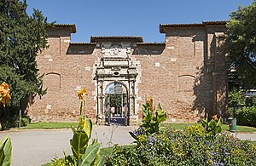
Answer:
[[[102, 147], [113, 144], [131, 144], [133, 139], [129, 131], [134, 127], [95, 126], [91, 138], [97, 138]], [[11, 130], [0, 132], [0, 140], [10, 135], [13, 154], [12, 166], [38, 166], [49, 163], [54, 157], [63, 157], [63, 150], [72, 153], [69, 140], [73, 136], [71, 129]], [[113, 134], [113, 136], [111, 136]]]

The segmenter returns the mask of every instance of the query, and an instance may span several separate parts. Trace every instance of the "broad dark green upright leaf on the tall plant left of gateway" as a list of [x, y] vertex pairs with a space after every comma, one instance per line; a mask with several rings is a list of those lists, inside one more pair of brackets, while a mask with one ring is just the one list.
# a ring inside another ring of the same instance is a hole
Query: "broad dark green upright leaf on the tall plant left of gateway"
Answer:
[[88, 146], [89, 137], [84, 131], [73, 131], [73, 139], [70, 140], [71, 149], [73, 156], [80, 160], [81, 156], [84, 154], [86, 147]]

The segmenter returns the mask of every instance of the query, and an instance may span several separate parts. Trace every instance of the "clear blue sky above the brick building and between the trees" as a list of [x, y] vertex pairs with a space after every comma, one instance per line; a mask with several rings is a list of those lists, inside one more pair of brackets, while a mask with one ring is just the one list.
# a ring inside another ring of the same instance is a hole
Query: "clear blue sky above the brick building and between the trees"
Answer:
[[72, 42], [90, 36], [141, 36], [144, 42], [164, 42], [160, 24], [229, 20], [237, 6], [253, 0], [27, 0], [27, 12], [39, 9], [48, 20], [75, 24]]

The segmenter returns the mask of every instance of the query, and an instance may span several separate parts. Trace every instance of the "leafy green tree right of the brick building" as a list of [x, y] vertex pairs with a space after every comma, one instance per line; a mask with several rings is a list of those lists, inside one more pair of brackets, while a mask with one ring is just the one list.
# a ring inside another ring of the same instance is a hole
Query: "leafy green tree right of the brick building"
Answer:
[[231, 86], [255, 89], [256, 0], [253, 0], [253, 3], [246, 7], [239, 6], [236, 12], [230, 14], [230, 17], [231, 19], [227, 23], [227, 45], [232, 69], [230, 77], [236, 79], [236, 83], [233, 80]]

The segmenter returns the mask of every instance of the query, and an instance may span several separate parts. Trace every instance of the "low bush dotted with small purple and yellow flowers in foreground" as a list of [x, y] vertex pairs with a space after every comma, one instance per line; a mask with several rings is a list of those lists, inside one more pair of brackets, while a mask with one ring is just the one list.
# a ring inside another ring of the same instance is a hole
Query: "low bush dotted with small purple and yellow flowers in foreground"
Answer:
[[199, 125], [138, 135], [135, 148], [115, 146], [110, 165], [256, 165], [256, 146], [225, 133], [209, 139]]

